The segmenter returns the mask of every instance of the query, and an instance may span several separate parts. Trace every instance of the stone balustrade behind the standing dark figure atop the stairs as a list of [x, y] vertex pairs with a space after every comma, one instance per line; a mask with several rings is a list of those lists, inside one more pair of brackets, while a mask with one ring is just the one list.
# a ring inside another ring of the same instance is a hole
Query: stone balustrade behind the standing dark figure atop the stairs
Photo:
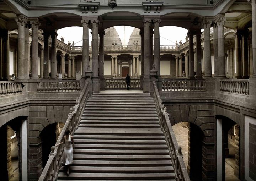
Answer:
[[[106, 89], [125, 89], [127, 88], [126, 79], [124, 78], [106, 78], [105, 79], [105, 88]], [[130, 82], [130, 88], [139, 89], [140, 88], [140, 79], [132, 78]]]

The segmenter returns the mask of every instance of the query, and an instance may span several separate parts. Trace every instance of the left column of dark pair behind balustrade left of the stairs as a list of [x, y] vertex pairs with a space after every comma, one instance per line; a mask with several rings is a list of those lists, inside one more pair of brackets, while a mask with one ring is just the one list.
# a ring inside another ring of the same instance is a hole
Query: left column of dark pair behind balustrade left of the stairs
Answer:
[[44, 31], [44, 78], [49, 78], [49, 33]]

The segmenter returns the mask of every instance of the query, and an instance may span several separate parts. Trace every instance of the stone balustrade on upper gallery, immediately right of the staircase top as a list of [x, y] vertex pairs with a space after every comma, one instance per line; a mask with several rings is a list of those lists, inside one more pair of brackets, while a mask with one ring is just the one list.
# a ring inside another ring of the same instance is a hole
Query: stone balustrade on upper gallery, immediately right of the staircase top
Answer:
[[205, 91], [203, 79], [163, 79], [163, 91]]

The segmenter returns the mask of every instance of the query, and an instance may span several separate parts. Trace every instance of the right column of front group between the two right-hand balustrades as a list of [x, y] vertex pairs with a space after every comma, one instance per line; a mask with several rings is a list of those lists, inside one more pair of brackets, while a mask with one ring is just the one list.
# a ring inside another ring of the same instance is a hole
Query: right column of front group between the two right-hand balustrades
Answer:
[[219, 14], [215, 19], [215, 22], [218, 26], [218, 68], [219, 68], [219, 77], [226, 77], [225, 70], [225, 44], [224, 44], [224, 22], [226, 18], [224, 15]]

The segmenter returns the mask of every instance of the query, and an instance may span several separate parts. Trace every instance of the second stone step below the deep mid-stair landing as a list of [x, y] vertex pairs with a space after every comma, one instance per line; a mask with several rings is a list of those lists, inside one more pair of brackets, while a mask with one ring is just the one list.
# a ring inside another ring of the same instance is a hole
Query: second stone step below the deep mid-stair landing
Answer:
[[106, 139], [75, 139], [74, 143], [76, 144], [164, 144], [166, 145], [165, 140], [106, 140]]

